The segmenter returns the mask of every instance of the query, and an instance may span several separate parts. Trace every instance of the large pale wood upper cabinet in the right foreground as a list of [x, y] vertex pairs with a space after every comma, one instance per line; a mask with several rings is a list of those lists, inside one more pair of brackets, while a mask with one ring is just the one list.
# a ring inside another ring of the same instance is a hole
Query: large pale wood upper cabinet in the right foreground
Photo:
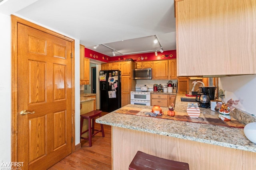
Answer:
[[255, 0], [176, 0], [178, 76], [256, 74]]

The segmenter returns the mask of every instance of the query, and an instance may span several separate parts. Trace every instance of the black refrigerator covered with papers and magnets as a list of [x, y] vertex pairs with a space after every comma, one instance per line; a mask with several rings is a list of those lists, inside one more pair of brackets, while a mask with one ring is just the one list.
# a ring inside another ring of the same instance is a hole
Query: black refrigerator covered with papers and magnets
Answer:
[[121, 72], [100, 71], [100, 110], [111, 112], [121, 107]]

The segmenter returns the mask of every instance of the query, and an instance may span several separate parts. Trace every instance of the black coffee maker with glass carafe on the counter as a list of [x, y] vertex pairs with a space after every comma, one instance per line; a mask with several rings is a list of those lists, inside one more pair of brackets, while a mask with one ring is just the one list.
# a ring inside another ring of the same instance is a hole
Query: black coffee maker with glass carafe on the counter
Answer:
[[196, 102], [198, 107], [210, 107], [210, 101], [215, 98], [216, 87], [199, 87], [200, 93], [196, 95]]

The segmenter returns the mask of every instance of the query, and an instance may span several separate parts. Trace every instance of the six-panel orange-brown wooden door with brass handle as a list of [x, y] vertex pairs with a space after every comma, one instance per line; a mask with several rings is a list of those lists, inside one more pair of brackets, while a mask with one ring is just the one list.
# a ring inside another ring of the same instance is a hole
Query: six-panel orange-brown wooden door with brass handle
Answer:
[[47, 169], [72, 152], [71, 53], [70, 41], [18, 23], [17, 160], [24, 170]]

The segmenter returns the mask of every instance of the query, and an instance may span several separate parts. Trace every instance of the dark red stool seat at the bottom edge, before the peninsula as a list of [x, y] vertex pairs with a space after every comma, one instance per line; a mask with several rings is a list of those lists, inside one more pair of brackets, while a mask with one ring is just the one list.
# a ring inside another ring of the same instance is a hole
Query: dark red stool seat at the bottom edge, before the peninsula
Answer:
[[188, 163], [159, 158], [138, 151], [134, 156], [129, 170], [189, 170]]

